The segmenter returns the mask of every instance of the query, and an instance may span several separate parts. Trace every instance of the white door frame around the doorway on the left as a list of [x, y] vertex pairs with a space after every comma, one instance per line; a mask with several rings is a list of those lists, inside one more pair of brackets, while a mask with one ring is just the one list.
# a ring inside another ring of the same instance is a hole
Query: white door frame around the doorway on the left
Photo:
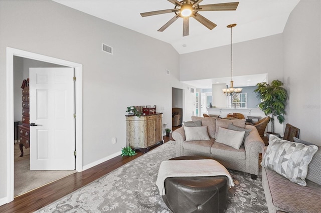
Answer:
[[33, 53], [21, 49], [7, 47], [7, 198], [11, 202], [14, 200], [14, 56], [40, 60], [49, 63], [60, 64], [75, 68], [75, 104], [76, 104], [76, 170], [83, 170], [83, 145], [82, 145], [82, 64], [75, 63], [55, 57], [50, 57], [38, 53]]

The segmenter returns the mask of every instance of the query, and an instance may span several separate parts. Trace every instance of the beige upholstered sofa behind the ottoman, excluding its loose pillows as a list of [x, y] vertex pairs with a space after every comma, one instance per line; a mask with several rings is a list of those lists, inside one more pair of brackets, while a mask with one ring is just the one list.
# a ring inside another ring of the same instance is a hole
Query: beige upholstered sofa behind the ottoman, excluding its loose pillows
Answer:
[[[248, 172], [252, 179], [259, 174], [258, 158], [262, 152], [264, 142], [255, 126], [245, 125], [245, 119], [221, 119], [217, 117], [192, 116], [193, 121], [201, 120], [202, 126], [207, 126], [210, 140], [187, 141], [184, 126], [176, 129], [172, 136], [176, 140], [176, 155], [197, 155], [211, 157], [222, 163], [225, 167]], [[249, 135], [239, 149], [215, 141], [217, 128], [227, 128], [228, 124], [244, 125], [251, 129]]]

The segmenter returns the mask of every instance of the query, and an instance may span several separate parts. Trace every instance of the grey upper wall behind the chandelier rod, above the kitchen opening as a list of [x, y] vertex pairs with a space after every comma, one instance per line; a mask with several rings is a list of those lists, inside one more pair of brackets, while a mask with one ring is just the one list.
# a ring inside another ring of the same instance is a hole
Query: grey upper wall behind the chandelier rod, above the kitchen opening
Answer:
[[[270, 81], [283, 80], [282, 38], [276, 34], [233, 43], [233, 76], [268, 73]], [[231, 45], [181, 54], [180, 61], [181, 80], [231, 77]]]

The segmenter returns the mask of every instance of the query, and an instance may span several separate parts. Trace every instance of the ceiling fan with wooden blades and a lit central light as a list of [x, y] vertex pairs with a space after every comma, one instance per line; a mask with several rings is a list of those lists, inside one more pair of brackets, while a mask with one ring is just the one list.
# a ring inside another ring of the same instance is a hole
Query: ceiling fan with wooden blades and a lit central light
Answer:
[[229, 2], [229, 3], [214, 3], [214, 4], [206, 4], [200, 5], [203, 0], [168, 0], [175, 4], [174, 9], [164, 9], [164, 10], [157, 10], [151, 12], [142, 12], [140, 15], [142, 17], [149, 16], [149, 15], [158, 15], [164, 13], [174, 12], [176, 15], [169, 20], [166, 24], [164, 24], [161, 28], [157, 31], [163, 32], [169, 25], [171, 25], [174, 21], [176, 21], [179, 17], [183, 18], [183, 36], [190, 34], [190, 24], [189, 18], [193, 17], [199, 22], [201, 22], [204, 26], [212, 30], [217, 24], [213, 23], [209, 19], [205, 18], [199, 11], [218, 11], [218, 10], [236, 10], [237, 5], [239, 2]]

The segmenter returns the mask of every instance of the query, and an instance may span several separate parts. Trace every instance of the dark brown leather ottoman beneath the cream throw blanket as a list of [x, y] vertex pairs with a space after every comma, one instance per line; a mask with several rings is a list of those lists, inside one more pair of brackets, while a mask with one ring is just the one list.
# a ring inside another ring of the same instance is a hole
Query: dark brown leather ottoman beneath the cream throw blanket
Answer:
[[[180, 156], [171, 160], [204, 159]], [[227, 176], [167, 177], [163, 199], [175, 213], [225, 212], [229, 190]]]

